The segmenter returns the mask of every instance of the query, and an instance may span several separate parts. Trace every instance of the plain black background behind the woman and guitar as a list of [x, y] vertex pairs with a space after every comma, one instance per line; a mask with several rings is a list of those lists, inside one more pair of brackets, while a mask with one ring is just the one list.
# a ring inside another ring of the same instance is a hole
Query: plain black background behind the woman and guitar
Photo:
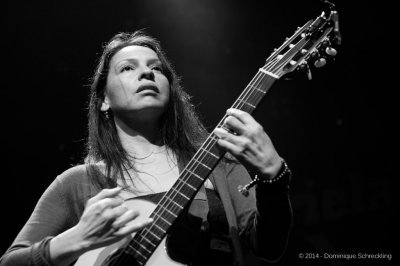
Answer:
[[[254, 114], [294, 175], [294, 226], [278, 265], [386, 264], [299, 254], [391, 254], [397, 239], [394, 85], [378, 3], [335, 2], [334, 62], [279, 80]], [[81, 162], [89, 78], [101, 46], [145, 28], [161, 41], [211, 130], [273, 48], [319, 1], [18, 1], [3, 11], [0, 253], [52, 180]]]

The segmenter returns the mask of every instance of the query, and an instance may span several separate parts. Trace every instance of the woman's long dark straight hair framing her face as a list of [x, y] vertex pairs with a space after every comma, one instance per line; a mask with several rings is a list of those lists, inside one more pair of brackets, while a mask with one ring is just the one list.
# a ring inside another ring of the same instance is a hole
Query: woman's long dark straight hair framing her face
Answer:
[[[100, 110], [112, 57], [122, 48], [133, 45], [155, 51], [163, 65], [164, 75], [169, 80], [170, 99], [163, 115], [161, 132], [163, 143], [174, 152], [178, 162], [185, 162], [190, 158], [207, 136], [207, 131], [190, 102], [190, 96], [183, 90], [181, 81], [161, 50], [159, 41], [142, 30], [118, 33], [104, 45], [90, 86], [85, 163], [90, 180], [100, 188], [114, 187], [118, 179], [126, 185], [127, 170], [134, 169], [133, 161], [120, 142], [112, 111], [105, 113]], [[105, 164], [105, 171], [99, 169], [99, 162]]]

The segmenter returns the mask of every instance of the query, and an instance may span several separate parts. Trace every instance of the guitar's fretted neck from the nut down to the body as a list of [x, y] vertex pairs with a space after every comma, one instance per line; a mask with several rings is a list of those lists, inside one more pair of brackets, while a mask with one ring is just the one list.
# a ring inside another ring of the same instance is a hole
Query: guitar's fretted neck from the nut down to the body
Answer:
[[[273, 73], [260, 69], [232, 108], [252, 113], [277, 79], [278, 76]], [[223, 125], [225, 118], [226, 116], [217, 127]], [[176, 218], [223, 157], [224, 152], [216, 146], [217, 140], [213, 133], [208, 136], [150, 215], [154, 219], [153, 223], [132, 238], [126, 252], [133, 255], [138, 264], [144, 265], [147, 262]]]

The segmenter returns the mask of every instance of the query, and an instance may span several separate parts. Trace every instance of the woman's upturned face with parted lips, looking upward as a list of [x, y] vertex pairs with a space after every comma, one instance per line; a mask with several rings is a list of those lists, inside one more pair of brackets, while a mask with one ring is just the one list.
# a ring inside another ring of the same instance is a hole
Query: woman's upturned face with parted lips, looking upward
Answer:
[[127, 46], [110, 62], [101, 110], [116, 116], [157, 119], [169, 102], [170, 84], [156, 52], [143, 46]]

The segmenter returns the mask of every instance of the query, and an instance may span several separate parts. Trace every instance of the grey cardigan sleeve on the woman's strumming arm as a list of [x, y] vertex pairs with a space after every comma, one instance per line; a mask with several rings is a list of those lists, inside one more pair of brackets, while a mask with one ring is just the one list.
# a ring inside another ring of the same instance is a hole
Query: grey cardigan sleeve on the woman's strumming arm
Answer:
[[42, 194], [0, 265], [51, 265], [48, 243], [53, 236], [75, 225], [80, 214], [75, 170], [59, 175]]

